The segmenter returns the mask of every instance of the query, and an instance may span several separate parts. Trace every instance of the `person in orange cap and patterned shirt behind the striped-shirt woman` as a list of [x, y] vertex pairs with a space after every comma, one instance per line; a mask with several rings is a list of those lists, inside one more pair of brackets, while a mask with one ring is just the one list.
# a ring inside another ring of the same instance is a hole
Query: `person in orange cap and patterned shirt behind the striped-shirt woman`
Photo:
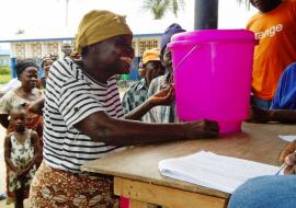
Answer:
[[163, 74], [164, 70], [161, 66], [160, 53], [157, 48], [144, 51], [143, 69], [145, 70], [145, 77], [140, 81], [133, 84], [123, 96], [122, 103], [124, 114], [127, 114], [144, 103], [147, 99], [150, 82], [155, 78]]

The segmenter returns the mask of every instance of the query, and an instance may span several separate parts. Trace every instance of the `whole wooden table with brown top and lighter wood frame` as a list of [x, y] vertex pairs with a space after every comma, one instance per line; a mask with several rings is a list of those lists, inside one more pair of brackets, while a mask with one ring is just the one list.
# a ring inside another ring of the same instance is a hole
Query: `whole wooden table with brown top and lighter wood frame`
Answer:
[[200, 150], [280, 165], [287, 145], [278, 135], [295, 135], [296, 127], [281, 124], [243, 124], [242, 131], [219, 139], [177, 141], [135, 147], [91, 161], [83, 171], [114, 175], [114, 193], [130, 198], [132, 207], [148, 204], [169, 208], [227, 207], [229, 194], [162, 176], [158, 162]]

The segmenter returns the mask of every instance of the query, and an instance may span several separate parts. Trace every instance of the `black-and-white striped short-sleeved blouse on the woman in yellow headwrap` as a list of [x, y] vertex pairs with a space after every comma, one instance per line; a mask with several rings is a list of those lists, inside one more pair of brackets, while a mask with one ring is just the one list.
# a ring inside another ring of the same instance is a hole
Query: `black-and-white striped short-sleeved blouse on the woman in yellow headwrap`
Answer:
[[55, 61], [47, 78], [44, 107], [43, 154], [48, 165], [79, 173], [84, 162], [121, 148], [95, 142], [73, 127], [95, 112], [123, 118], [115, 78], [102, 84], [70, 58]]

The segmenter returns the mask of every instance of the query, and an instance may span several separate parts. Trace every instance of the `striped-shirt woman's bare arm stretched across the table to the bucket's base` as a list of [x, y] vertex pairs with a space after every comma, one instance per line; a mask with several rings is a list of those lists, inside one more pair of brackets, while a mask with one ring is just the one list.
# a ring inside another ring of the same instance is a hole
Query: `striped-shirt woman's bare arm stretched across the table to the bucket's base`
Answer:
[[213, 138], [218, 136], [217, 123], [198, 120], [183, 124], [147, 124], [112, 118], [96, 112], [80, 120], [75, 127], [92, 140], [111, 146], [160, 143], [164, 141]]

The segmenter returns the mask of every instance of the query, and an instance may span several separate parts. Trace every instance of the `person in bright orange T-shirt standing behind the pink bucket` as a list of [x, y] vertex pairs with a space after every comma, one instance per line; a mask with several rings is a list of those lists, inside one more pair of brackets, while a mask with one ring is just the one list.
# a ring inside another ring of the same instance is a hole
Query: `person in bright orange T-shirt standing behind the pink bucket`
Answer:
[[270, 108], [282, 72], [296, 60], [296, 1], [250, 2], [259, 12], [249, 20], [247, 28], [260, 41], [254, 50], [251, 103]]

